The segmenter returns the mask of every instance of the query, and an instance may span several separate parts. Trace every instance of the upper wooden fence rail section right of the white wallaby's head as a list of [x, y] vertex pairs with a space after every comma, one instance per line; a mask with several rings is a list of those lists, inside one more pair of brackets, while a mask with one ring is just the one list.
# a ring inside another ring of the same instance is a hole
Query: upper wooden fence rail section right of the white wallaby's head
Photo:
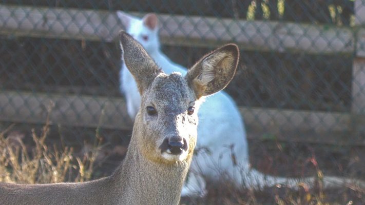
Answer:
[[329, 54], [354, 51], [352, 30], [348, 28], [197, 16], [185, 19], [184, 16], [161, 15], [160, 18], [164, 23], [161, 35], [168, 36], [172, 31], [174, 38], [187, 37], [186, 41], [191, 38], [208, 44], [235, 42], [245, 50], [276, 52]]

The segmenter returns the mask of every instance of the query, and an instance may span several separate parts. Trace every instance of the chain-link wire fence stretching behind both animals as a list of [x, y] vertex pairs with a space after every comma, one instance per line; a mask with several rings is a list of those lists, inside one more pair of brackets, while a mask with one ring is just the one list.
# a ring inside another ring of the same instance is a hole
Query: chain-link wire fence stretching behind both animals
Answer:
[[[131, 130], [132, 122], [119, 89], [117, 34], [123, 25], [118, 10], [139, 17], [157, 13], [162, 50], [184, 67], [224, 43], [239, 45], [239, 69], [226, 92], [244, 117], [252, 158], [271, 156], [271, 148], [261, 151], [266, 140], [274, 147], [278, 141], [310, 143], [305, 149], [294, 144], [279, 150], [286, 149], [296, 159], [311, 150], [308, 147], [327, 146], [333, 149], [325, 152], [323, 163], [335, 161], [329, 170], [355, 170], [361, 176], [365, 142], [365, 1], [361, 0], [3, 0], [3, 128], [13, 122], [42, 125], [52, 107], [53, 132], [68, 141], [83, 144], [95, 135], [95, 128], [109, 141], [128, 138], [125, 131]], [[263, 164], [261, 169], [266, 169], [267, 163]], [[354, 169], [355, 165], [360, 168]], [[274, 172], [280, 169], [289, 168]]]

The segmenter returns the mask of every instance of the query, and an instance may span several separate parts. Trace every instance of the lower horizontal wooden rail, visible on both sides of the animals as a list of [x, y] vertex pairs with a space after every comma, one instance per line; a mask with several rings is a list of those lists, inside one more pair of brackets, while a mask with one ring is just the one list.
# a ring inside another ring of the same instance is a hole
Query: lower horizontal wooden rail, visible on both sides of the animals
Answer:
[[[132, 128], [123, 98], [74, 94], [3, 91], [0, 93], [0, 121], [43, 124], [52, 102], [54, 107], [50, 119], [53, 124]], [[247, 127], [273, 134], [286, 131], [342, 132], [348, 131], [351, 123], [349, 113], [244, 107], [240, 108], [240, 112]]]

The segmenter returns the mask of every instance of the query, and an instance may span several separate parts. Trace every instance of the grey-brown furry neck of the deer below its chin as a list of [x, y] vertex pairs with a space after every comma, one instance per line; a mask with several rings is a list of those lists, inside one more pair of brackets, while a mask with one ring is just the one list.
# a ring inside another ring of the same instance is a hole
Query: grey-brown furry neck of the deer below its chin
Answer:
[[[116, 204], [178, 204], [189, 163], [166, 165], [150, 161], [139, 152], [132, 136], [125, 159], [111, 176], [116, 190], [124, 196]], [[136, 196], [140, 196], [138, 201]]]

